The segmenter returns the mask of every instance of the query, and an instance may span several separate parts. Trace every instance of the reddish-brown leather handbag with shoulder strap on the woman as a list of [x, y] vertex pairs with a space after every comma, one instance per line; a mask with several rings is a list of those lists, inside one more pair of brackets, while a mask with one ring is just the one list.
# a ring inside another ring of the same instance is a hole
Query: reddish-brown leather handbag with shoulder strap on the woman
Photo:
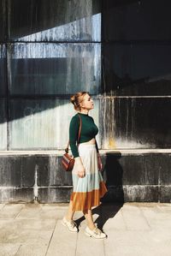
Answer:
[[[79, 115], [80, 117], [80, 115]], [[78, 139], [77, 139], [77, 146], [80, 140], [80, 131], [81, 131], [81, 118], [80, 118], [80, 128], [79, 128], [79, 135], [78, 135]], [[71, 171], [74, 168], [74, 157], [72, 155], [68, 154], [68, 147], [69, 147], [69, 141], [68, 141], [68, 146], [65, 149], [65, 153], [62, 156], [62, 167], [64, 170], [66, 171]]]

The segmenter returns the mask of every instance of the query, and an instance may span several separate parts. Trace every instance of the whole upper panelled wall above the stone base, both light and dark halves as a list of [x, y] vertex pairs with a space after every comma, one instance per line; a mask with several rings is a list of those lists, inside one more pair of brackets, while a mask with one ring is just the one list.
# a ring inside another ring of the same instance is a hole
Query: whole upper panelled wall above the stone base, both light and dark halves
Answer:
[[0, 7], [1, 150], [63, 149], [80, 90], [96, 101], [100, 148], [170, 148], [169, 1]]

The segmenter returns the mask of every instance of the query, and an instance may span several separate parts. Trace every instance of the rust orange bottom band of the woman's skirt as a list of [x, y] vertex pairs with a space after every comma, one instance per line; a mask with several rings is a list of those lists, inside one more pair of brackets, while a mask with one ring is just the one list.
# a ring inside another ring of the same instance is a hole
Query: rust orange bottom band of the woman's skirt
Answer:
[[91, 192], [73, 192], [70, 200], [73, 201], [73, 211], [91, 210], [91, 207], [100, 205], [100, 199], [107, 188], [104, 182], [100, 182], [99, 189], [94, 189]]

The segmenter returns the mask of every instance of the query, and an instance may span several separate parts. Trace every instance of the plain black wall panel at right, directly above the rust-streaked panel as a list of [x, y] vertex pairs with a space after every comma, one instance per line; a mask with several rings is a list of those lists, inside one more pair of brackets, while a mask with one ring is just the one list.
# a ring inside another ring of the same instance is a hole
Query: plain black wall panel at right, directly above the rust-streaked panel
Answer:
[[171, 45], [104, 44], [103, 92], [171, 95]]

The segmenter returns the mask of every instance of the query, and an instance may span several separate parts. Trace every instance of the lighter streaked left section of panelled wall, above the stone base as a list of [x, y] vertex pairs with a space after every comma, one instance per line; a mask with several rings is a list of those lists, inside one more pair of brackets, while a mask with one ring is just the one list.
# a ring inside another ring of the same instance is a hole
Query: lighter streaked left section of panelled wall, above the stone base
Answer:
[[0, 150], [66, 146], [69, 95], [100, 90], [100, 8], [92, 0], [0, 0]]

